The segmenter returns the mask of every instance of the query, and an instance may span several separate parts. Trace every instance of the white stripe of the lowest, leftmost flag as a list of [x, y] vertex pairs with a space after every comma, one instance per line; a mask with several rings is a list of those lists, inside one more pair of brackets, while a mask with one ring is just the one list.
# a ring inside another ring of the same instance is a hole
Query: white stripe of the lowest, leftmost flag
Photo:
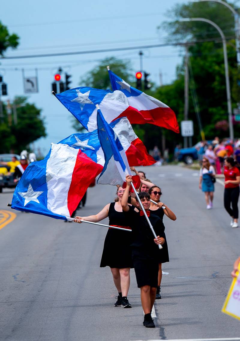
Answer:
[[[64, 144], [52, 144], [47, 161], [47, 208], [53, 213], [69, 217], [67, 195], [72, 181], [78, 149]], [[61, 167], [59, 167], [61, 164]]]

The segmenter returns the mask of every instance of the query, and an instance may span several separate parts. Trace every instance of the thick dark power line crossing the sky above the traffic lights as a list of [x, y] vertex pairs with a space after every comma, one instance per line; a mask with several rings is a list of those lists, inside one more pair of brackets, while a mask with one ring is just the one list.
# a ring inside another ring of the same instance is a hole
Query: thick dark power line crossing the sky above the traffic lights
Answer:
[[[234, 37], [227, 37], [226, 40], [233, 39]], [[116, 51], [126, 51], [126, 50], [139, 50], [146, 48], [156, 48], [156, 47], [165, 47], [165, 46], [185, 46], [196, 43], [204, 43], [204, 42], [221, 42], [220, 38], [211, 38], [211, 39], [203, 39], [196, 40], [190, 42], [176, 42], [176, 43], [164, 43], [164, 44], [153, 44], [153, 45], [141, 45], [141, 46], [131, 46], [131, 47], [117, 47], [117, 48], [106, 48], [99, 50], [87, 50], [87, 51], [74, 51], [74, 52], [61, 52], [61, 53], [50, 53], [50, 54], [41, 54], [41, 55], [26, 55], [26, 56], [12, 56], [12, 57], [2, 57], [0, 60], [5, 59], [24, 59], [24, 58], [44, 58], [44, 57], [57, 57], [57, 56], [71, 56], [71, 55], [83, 55], [83, 54], [93, 54], [93, 53], [103, 53], [103, 52], [116, 52]]]

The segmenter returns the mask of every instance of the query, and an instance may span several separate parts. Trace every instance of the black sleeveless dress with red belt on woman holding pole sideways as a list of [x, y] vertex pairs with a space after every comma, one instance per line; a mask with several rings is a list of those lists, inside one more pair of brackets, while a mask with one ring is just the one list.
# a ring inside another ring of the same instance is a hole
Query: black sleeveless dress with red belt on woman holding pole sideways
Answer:
[[[123, 212], [117, 212], [115, 203], [110, 203], [108, 210], [109, 225], [129, 226]], [[109, 228], [104, 241], [100, 267], [133, 268], [132, 263], [132, 232]]]

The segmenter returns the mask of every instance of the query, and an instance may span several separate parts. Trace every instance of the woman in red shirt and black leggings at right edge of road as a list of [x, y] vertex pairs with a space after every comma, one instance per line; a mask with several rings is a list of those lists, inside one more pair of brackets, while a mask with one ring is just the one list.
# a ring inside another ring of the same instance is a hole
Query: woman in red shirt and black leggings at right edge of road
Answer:
[[[240, 172], [235, 166], [233, 158], [225, 159], [225, 189], [224, 189], [224, 207], [229, 215], [232, 217], [230, 226], [238, 227], [238, 197], [239, 197], [239, 183]], [[231, 208], [231, 204], [232, 207]]]

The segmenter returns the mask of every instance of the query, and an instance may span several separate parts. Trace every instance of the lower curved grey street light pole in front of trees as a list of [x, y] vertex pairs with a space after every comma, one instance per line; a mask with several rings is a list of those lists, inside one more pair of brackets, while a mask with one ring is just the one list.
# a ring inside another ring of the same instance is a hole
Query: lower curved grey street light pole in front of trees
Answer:
[[228, 59], [227, 59], [227, 45], [225, 35], [221, 28], [216, 25], [213, 21], [205, 19], [205, 18], [183, 18], [179, 19], [179, 21], [204, 21], [212, 26], [214, 26], [220, 33], [223, 41], [223, 57], [224, 57], [224, 66], [225, 66], [225, 80], [226, 80], [226, 92], [227, 92], [227, 111], [228, 111], [228, 124], [229, 124], [229, 135], [230, 139], [234, 138], [233, 131], [233, 116], [232, 116], [232, 105], [231, 105], [231, 92], [230, 92], [230, 82], [229, 82], [229, 72], [228, 72]]

